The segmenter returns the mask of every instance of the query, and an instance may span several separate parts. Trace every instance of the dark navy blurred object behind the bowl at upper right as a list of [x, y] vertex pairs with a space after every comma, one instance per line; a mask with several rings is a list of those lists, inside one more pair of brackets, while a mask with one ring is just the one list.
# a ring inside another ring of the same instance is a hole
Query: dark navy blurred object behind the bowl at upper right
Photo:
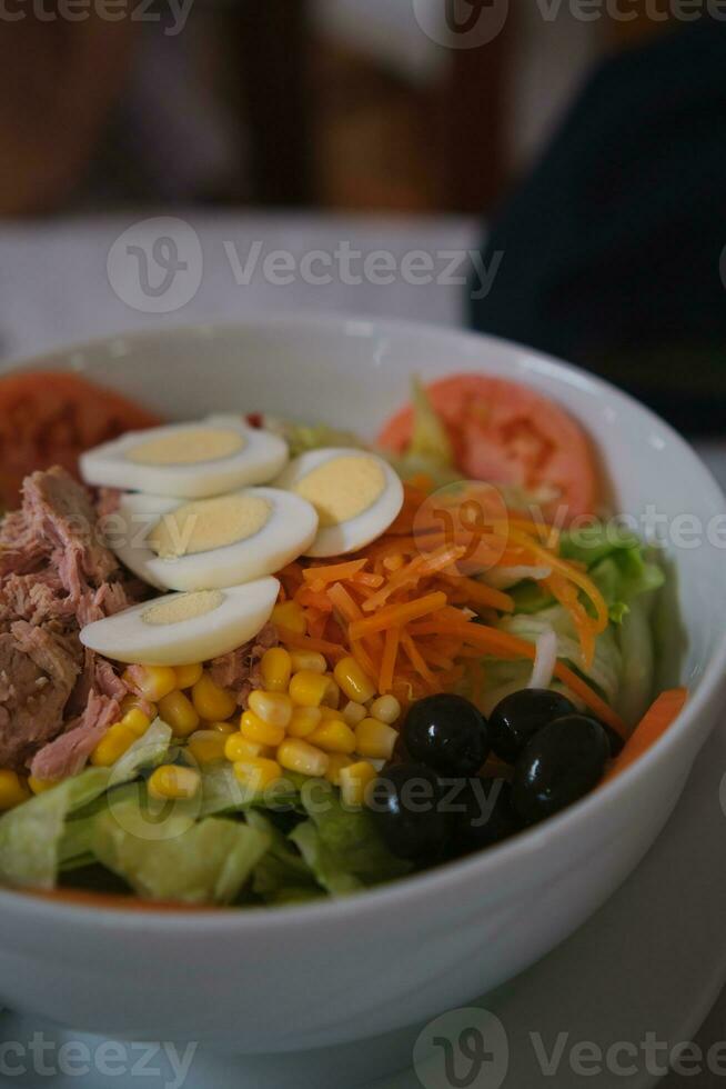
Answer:
[[726, 430], [726, 23], [604, 63], [495, 218], [480, 330], [598, 371], [682, 430]]

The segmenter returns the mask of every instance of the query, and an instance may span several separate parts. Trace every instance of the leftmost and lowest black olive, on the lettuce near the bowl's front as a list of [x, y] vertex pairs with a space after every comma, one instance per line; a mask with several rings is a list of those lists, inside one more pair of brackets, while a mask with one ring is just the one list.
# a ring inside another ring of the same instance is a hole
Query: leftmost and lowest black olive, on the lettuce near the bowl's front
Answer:
[[369, 808], [394, 855], [415, 862], [443, 856], [452, 827], [442, 811], [443, 797], [438, 777], [423, 765], [399, 763], [381, 773]]

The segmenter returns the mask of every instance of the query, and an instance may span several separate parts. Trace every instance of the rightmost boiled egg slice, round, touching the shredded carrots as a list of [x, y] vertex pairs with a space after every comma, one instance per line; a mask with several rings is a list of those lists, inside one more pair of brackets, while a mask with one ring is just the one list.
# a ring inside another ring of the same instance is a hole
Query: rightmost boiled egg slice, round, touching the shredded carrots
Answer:
[[381, 537], [403, 506], [403, 484], [374, 453], [311, 450], [291, 461], [275, 481], [317, 511], [320, 528], [306, 556], [355, 552]]

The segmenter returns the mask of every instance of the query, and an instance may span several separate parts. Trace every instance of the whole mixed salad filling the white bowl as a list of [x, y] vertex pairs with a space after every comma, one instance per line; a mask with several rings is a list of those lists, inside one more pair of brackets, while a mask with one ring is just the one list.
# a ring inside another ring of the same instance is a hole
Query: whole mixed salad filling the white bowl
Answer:
[[77, 376], [11, 377], [3, 403], [6, 885], [354, 892], [561, 811], [685, 702], [654, 691], [658, 550], [522, 386], [416, 381], [374, 444], [163, 423]]

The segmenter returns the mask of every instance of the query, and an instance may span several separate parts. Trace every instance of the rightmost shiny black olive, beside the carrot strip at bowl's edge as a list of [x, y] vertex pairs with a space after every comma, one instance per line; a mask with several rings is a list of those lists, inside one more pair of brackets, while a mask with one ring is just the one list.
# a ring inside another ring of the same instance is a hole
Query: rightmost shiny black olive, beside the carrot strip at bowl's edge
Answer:
[[611, 748], [605, 730], [585, 715], [567, 715], [538, 730], [517, 760], [512, 803], [527, 825], [551, 817], [602, 779]]

